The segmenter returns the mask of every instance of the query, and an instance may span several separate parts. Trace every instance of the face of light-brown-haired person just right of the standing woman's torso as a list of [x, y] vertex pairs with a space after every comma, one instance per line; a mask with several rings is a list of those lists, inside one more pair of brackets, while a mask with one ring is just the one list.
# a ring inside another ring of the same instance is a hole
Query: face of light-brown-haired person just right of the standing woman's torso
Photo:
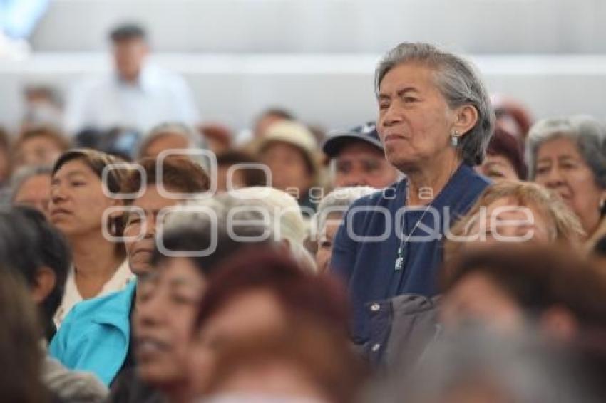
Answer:
[[[492, 245], [503, 242], [538, 242], [548, 244], [553, 240], [555, 226], [535, 206], [520, 206], [509, 197], [498, 199], [486, 208], [486, 225], [476, 220], [469, 234], [479, 234], [466, 246]], [[486, 237], [486, 241], [483, 241]]]

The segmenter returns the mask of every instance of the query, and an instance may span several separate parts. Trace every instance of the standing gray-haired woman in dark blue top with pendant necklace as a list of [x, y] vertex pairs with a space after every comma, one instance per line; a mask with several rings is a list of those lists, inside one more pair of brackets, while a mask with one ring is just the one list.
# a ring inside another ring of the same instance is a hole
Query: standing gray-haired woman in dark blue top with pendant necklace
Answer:
[[381, 301], [438, 292], [443, 235], [489, 183], [472, 167], [495, 119], [470, 64], [428, 43], [386, 53], [374, 87], [386, 157], [406, 178], [355, 201], [335, 237], [331, 268], [349, 288], [358, 344], [369, 342], [371, 315], [389, 305]]

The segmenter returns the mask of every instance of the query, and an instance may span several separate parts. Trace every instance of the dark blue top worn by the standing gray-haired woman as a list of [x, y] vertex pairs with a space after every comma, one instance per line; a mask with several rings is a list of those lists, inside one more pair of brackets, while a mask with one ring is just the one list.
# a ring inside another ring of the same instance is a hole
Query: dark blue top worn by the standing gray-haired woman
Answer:
[[[406, 211], [406, 179], [351, 205], [334, 239], [331, 267], [346, 281], [354, 342], [369, 339], [372, 303], [408, 293], [436, 295], [444, 229], [466, 214], [488, 184], [488, 179], [462, 164], [416, 229], [426, 208]], [[409, 234], [403, 265], [396, 270], [398, 248]], [[421, 237], [426, 240], [414, 241]]]

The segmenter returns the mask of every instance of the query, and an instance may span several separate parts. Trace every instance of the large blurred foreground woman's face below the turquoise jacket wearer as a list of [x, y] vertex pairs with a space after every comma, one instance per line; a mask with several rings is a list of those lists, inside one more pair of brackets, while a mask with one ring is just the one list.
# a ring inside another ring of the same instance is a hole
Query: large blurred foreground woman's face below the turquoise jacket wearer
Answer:
[[187, 382], [185, 365], [205, 278], [188, 258], [169, 258], [139, 281], [133, 328], [140, 377], [160, 389]]

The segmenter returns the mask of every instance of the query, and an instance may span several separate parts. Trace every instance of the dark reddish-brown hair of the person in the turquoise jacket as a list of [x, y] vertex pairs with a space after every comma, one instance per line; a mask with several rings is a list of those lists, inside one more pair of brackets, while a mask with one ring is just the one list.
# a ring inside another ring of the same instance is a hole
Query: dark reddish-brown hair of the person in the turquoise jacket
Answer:
[[[155, 184], [158, 180], [158, 159], [147, 157], [137, 162], [145, 171], [146, 184]], [[162, 184], [180, 193], [200, 193], [208, 190], [210, 179], [204, 169], [187, 157], [170, 155], [162, 163]], [[126, 175], [121, 192], [135, 193], [141, 187], [141, 174], [132, 169]]]

